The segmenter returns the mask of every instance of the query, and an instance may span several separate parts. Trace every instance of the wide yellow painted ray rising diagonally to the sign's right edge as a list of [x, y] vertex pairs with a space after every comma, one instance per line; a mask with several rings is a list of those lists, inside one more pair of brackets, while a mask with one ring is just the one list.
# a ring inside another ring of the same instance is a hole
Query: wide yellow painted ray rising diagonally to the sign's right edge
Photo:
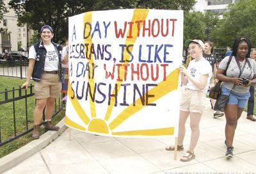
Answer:
[[[160, 99], [161, 97], [166, 95], [167, 93], [173, 90], [177, 90], [178, 81], [179, 81], [179, 68], [176, 68], [175, 70], [173, 70], [172, 73], [170, 73], [166, 77], [166, 81], [161, 81], [161, 83], [159, 83], [156, 87], [148, 91], [148, 93], [154, 93], [155, 95], [154, 100], [151, 100], [150, 102], [154, 102], [157, 99]], [[127, 106], [124, 109], [124, 111], [122, 111], [122, 113], [116, 116], [116, 118], [113, 119], [111, 123], [109, 123], [109, 129], [111, 130], [115, 129], [116, 127], [118, 127], [118, 125], [122, 124], [130, 116], [134, 115], [134, 113], [140, 111], [140, 109], [142, 109], [143, 107], [146, 107], [141, 104], [140, 99], [136, 100], [135, 106], [136, 107], [134, 107], [133, 104], [130, 104], [129, 106]]]

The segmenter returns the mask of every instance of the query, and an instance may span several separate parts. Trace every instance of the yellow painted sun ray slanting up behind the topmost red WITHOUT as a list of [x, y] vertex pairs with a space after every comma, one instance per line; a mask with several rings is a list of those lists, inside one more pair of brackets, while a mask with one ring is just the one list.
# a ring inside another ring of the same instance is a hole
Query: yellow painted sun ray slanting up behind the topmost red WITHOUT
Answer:
[[[136, 20], [145, 20], [147, 18], [147, 15], [148, 15], [148, 12], [149, 10], [141, 10], [141, 9], [135, 9], [134, 12], [133, 12], [133, 16], [132, 16], [132, 22], [133, 21], [136, 21]], [[140, 25], [140, 28], [141, 28], [142, 24]], [[137, 33], [138, 31], [138, 28], [132, 28], [132, 38], [126, 38], [125, 40], [125, 45], [130, 45], [130, 44], [134, 44], [136, 39], [137, 39]], [[130, 29], [128, 30], [127, 33], [130, 32]], [[132, 49], [131, 49], [131, 52], [132, 52]], [[124, 59], [130, 59], [130, 54], [125, 50], [124, 51]], [[127, 64], [127, 63], [125, 63]], [[120, 72], [124, 72], [124, 66], [120, 68]], [[120, 79], [123, 79], [124, 78], [124, 73], [121, 73], [120, 74]], [[118, 85], [117, 86], [117, 93], [120, 91], [120, 86], [122, 84], [122, 82], [116, 82], [116, 84]], [[108, 121], [109, 118], [110, 118], [110, 115], [113, 111], [113, 106], [114, 106], [115, 102], [113, 102], [113, 100], [111, 100], [111, 103], [109, 104], [108, 106], [108, 110], [106, 112], [106, 116], [104, 118], [104, 120]]]

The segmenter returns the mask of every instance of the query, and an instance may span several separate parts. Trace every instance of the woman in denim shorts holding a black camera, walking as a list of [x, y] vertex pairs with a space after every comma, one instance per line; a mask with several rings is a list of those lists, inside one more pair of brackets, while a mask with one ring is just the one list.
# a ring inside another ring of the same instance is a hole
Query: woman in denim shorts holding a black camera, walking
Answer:
[[217, 79], [223, 81], [221, 94], [228, 95], [224, 110], [226, 117], [225, 145], [227, 146], [225, 156], [228, 159], [233, 157], [233, 141], [237, 120], [241, 117], [250, 97], [250, 86], [256, 84], [256, 62], [253, 59], [248, 59], [251, 49], [250, 40], [245, 36], [236, 38], [232, 48], [230, 64], [227, 67], [230, 56], [225, 57], [216, 74]]

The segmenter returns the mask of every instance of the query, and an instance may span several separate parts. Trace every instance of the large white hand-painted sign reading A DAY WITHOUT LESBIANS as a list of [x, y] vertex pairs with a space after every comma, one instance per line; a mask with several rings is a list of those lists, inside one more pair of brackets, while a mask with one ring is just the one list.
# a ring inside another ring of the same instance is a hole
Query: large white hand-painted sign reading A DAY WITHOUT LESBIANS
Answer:
[[183, 11], [86, 12], [68, 23], [65, 124], [106, 136], [177, 136]]

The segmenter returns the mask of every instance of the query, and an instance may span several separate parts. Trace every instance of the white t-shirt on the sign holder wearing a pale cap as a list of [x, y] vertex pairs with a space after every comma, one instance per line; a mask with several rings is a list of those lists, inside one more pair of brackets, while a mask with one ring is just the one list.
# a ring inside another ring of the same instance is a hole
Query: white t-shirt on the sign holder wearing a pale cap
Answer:
[[195, 61], [193, 59], [190, 61], [187, 69], [188, 74], [190, 74], [192, 77], [195, 77], [196, 80], [200, 80], [201, 75], [206, 75], [208, 74], [207, 78], [207, 84], [203, 90], [199, 90], [195, 84], [193, 84], [191, 81], [188, 79], [188, 84], [187, 88], [190, 90], [198, 90], [198, 91], [203, 91], [204, 93], [207, 93], [207, 90], [209, 88], [210, 80], [212, 77], [212, 67], [206, 59], [202, 58], [200, 61]]

